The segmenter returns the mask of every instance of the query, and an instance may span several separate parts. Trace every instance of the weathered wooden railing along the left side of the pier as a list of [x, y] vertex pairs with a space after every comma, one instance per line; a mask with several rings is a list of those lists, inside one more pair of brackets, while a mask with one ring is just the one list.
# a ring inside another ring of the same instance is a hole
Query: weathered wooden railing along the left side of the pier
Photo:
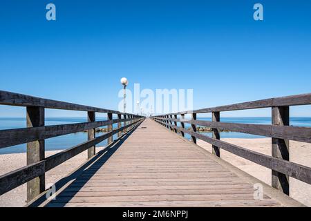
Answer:
[[[26, 107], [27, 128], [16, 128], [0, 131], [0, 148], [27, 143], [27, 166], [0, 176], [0, 195], [27, 182], [28, 202], [44, 192], [45, 173], [75, 155], [88, 151], [88, 158], [95, 155], [95, 145], [104, 140], [113, 143], [113, 135], [118, 137], [138, 126], [144, 117], [131, 113], [121, 113], [104, 108], [95, 108], [51, 99], [42, 99], [18, 93], [0, 90], [0, 105]], [[68, 111], [85, 111], [88, 122], [45, 126], [46, 108]], [[95, 121], [95, 113], [106, 113], [107, 120]], [[113, 114], [117, 119], [113, 119]], [[123, 125], [122, 125], [123, 123]], [[117, 128], [113, 129], [113, 124]], [[95, 137], [95, 128], [107, 126], [108, 132]], [[88, 140], [60, 153], [45, 157], [45, 139], [88, 131]]]

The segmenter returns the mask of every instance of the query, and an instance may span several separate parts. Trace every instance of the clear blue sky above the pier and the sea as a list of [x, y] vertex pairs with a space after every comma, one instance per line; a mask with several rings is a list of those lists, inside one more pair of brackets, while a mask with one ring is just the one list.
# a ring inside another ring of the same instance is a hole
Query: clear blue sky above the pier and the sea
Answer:
[[[47, 3], [57, 21], [46, 20]], [[193, 88], [194, 108], [310, 93], [310, 10], [310, 1], [2, 0], [0, 90], [112, 109], [120, 77], [129, 89]], [[0, 117], [24, 112], [0, 106]], [[244, 114], [270, 110], [227, 113]]]

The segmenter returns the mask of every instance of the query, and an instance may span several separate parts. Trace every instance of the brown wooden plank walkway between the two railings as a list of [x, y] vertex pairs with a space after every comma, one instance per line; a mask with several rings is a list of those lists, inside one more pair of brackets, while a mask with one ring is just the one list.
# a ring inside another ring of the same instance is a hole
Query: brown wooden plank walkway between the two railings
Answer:
[[[146, 119], [43, 206], [283, 206], [200, 147]], [[283, 193], [280, 193], [283, 195]]]

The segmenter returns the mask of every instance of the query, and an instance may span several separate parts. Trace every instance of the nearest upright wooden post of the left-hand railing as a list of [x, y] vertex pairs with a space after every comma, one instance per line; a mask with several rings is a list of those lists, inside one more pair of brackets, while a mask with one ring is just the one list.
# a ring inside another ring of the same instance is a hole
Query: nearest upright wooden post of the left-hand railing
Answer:
[[[44, 108], [27, 107], [27, 127], [44, 126]], [[44, 140], [37, 140], [27, 144], [27, 165], [44, 160]], [[33, 200], [46, 189], [45, 174], [27, 182], [27, 202]]]

